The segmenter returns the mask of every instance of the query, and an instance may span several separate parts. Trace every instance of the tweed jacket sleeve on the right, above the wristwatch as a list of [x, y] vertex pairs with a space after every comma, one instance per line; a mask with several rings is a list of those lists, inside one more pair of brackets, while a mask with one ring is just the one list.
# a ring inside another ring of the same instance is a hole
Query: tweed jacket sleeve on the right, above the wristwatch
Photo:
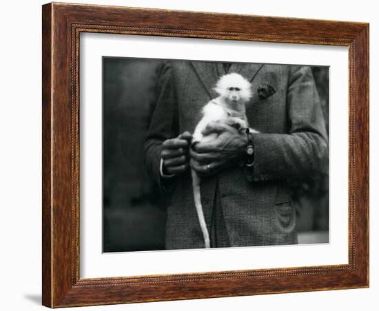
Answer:
[[328, 171], [328, 142], [309, 67], [290, 66], [288, 133], [254, 133], [254, 180], [303, 180]]

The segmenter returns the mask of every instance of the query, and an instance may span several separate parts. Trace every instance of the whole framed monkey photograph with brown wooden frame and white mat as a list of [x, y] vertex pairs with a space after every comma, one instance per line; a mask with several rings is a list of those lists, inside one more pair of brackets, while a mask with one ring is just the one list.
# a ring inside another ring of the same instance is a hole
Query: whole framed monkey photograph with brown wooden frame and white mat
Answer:
[[43, 6], [43, 305], [369, 286], [368, 51], [367, 23]]

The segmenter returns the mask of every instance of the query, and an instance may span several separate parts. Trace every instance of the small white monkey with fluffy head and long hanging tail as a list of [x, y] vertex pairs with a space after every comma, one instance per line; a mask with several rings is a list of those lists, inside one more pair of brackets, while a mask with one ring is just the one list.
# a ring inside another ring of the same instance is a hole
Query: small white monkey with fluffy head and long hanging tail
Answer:
[[[203, 118], [196, 125], [192, 145], [198, 142], [209, 142], [217, 138], [218, 134], [216, 133], [203, 136], [202, 132], [209, 122], [225, 122], [239, 130], [249, 127], [245, 114], [245, 103], [249, 102], [250, 98], [252, 98], [252, 89], [249, 81], [240, 74], [225, 74], [225, 76], [221, 76], [218, 80], [214, 90], [220, 96], [212, 99], [203, 107]], [[254, 129], [249, 129], [249, 131], [251, 133], [258, 133]], [[207, 224], [205, 223], [203, 206], [201, 205], [201, 178], [194, 169], [191, 170], [191, 173], [198, 222], [203, 233], [205, 248], [210, 248], [209, 233]]]

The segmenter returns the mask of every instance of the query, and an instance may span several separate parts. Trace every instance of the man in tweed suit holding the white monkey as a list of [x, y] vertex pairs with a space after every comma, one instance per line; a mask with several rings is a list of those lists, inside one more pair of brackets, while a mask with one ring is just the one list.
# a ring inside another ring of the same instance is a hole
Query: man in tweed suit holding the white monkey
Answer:
[[[225, 73], [252, 83], [246, 105], [254, 162], [244, 163], [249, 137], [211, 124], [212, 143], [191, 149], [201, 108], [217, 94]], [[203, 248], [189, 166], [202, 175], [202, 204], [212, 247], [296, 244], [291, 182], [327, 169], [328, 144], [314, 78], [296, 65], [167, 62], [161, 69], [157, 100], [145, 142], [146, 165], [167, 206], [166, 248]]]

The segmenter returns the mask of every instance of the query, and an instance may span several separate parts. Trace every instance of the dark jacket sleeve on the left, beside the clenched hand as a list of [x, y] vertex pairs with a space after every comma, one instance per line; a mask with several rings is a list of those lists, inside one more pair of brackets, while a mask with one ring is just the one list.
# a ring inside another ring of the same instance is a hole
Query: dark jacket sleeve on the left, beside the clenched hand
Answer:
[[156, 105], [145, 140], [145, 167], [147, 173], [162, 191], [170, 189], [175, 178], [161, 178], [162, 143], [178, 136], [176, 94], [169, 61], [161, 66], [156, 87]]

